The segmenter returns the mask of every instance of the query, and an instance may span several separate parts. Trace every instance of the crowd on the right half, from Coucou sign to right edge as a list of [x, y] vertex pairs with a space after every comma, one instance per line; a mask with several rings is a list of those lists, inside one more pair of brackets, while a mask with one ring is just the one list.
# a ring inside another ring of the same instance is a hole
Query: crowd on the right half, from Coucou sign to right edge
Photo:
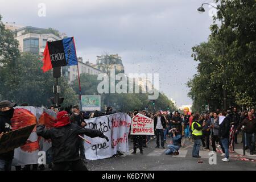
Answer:
[[[256, 133], [256, 113], [254, 109], [239, 111], [236, 107], [228, 111], [212, 111], [210, 113], [191, 113], [181, 114], [179, 111], [174, 113], [157, 111], [147, 113], [147, 111], [129, 112], [127, 114], [133, 118], [141, 113], [154, 120], [155, 135], [130, 135], [129, 138], [134, 142], [134, 151], [137, 148], [143, 154], [146, 143], [156, 138], [156, 148], [164, 147], [167, 137], [172, 138], [167, 144], [167, 155], [179, 155], [182, 139], [194, 142], [192, 157], [201, 158], [200, 149], [215, 151], [220, 148], [223, 162], [229, 162], [229, 152], [234, 152], [238, 144], [238, 134], [243, 130], [245, 135], [241, 138], [241, 143], [245, 142], [245, 150], [249, 150], [250, 155], [255, 153], [255, 133]], [[243, 140], [244, 139], [244, 140]]]

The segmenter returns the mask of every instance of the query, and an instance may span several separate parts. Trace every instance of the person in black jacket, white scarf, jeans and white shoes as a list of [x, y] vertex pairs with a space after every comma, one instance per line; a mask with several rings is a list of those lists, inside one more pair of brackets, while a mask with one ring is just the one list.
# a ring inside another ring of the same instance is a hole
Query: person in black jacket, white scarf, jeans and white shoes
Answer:
[[223, 162], [229, 162], [229, 132], [230, 132], [230, 121], [226, 117], [226, 112], [222, 111], [219, 117], [219, 131], [218, 136], [225, 150], [225, 158], [222, 159]]

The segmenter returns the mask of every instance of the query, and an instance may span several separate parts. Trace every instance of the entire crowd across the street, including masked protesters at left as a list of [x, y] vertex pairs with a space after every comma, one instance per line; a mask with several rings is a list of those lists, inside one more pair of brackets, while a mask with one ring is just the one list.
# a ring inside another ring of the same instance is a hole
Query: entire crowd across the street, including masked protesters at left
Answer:
[[[0, 102], [0, 138], [6, 132], [11, 131], [11, 118], [14, 114], [16, 104], [10, 101]], [[23, 104], [22, 106], [27, 106]], [[46, 129], [42, 125], [37, 126], [37, 134], [46, 139], [52, 140], [53, 147], [53, 162], [52, 169], [67, 170], [80, 169], [86, 170], [84, 152], [83, 135], [89, 137], [108, 138], [98, 130], [85, 129], [87, 125], [85, 119], [100, 117], [102, 115], [114, 114], [121, 111], [114, 111], [111, 106], [106, 108], [106, 112], [81, 111], [79, 106], [71, 106], [56, 108], [51, 106], [49, 109], [57, 114], [55, 126], [52, 129]], [[236, 144], [238, 144], [238, 134], [244, 131], [245, 149], [250, 151], [250, 155], [255, 154], [255, 133], [256, 133], [256, 114], [254, 109], [239, 111], [233, 107], [229, 111], [213, 111], [210, 113], [185, 113], [179, 111], [170, 113], [170, 111], [156, 111], [155, 113], [147, 112], [146, 110], [134, 110], [127, 112], [133, 118], [138, 113], [151, 118], [154, 121], [154, 135], [130, 135], [129, 139], [133, 142], [132, 154], [137, 154], [139, 148], [140, 154], [143, 154], [143, 149], [147, 148], [147, 144], [152, 139], [156, 139], [155, 148], [163, 148], [166, 155], [179, 155], [179, 150], [182, 146], [182, 140], [188, 139], [194, 142], [192, 157], [201, 158], [201, 146], [205, 150], [217, 152], [217, 148], [221, 148], [221, 156], [223, 162], [229, 162], [229, 152], [233, 152]], [[77, 134], [81, 138], [77, 137]], [[60, 137], [62, 136], [62, 137]], [[68, 137], [67, 137], [68, 136]], [[170, 142], [167, 142], [170, 138]], [[243, 142], [243, 140], [241, 141]], [[167, 146], [165, 147], [165, 144]], [[68, 147], [67, 147], [68, 146]], [[211, 147], [211, 148], [210, 148]], [[65, 150], [61, 150], [65, 148]], [[117, 155], [122, 155], [117, 152]], [[14, 150], [0, 154], [0, 170], [10, 170], [14, 156]], [[62, 156], [62, 157], [61, 157]], [[44, 169], [44, 165], [39, 166]], [[38, 164], [32, 164], [32, 169], [37, 170]], [[30, 170], [31, 165], [26, 165], [23, 168], [16, 166], [16, 170]]]

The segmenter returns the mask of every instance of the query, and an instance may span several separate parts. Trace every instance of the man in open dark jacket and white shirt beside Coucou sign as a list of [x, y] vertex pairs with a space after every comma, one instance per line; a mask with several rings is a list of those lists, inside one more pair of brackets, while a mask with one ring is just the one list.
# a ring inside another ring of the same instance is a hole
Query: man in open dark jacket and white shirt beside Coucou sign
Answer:
[[166, 129], [166, 119], [162, 116], [160, 111], [154, 118], [154, 129], [156, 135], [156, 148], [159, 148], [159, 136], [161, 137], [161, 146], [164, 148], [164, 130]]

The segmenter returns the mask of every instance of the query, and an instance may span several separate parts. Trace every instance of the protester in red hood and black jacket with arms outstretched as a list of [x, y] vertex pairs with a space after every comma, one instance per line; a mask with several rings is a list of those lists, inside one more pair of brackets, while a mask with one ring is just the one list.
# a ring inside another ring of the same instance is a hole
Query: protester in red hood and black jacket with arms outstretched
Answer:
[[88, 137], [106, 137], [99, 130], [84, 129], [74, 123], [69, 122], [67, 111], [60, 111], [57, 114], [57, 122], [51, 129], [45, 129], [44, 125], [36, 127], [36, 133], [45, 139], [52, 141], [53, 170], [55, 171], [86, 171], [87, 168], [82, 164], [79, 156], [79, 135]]

